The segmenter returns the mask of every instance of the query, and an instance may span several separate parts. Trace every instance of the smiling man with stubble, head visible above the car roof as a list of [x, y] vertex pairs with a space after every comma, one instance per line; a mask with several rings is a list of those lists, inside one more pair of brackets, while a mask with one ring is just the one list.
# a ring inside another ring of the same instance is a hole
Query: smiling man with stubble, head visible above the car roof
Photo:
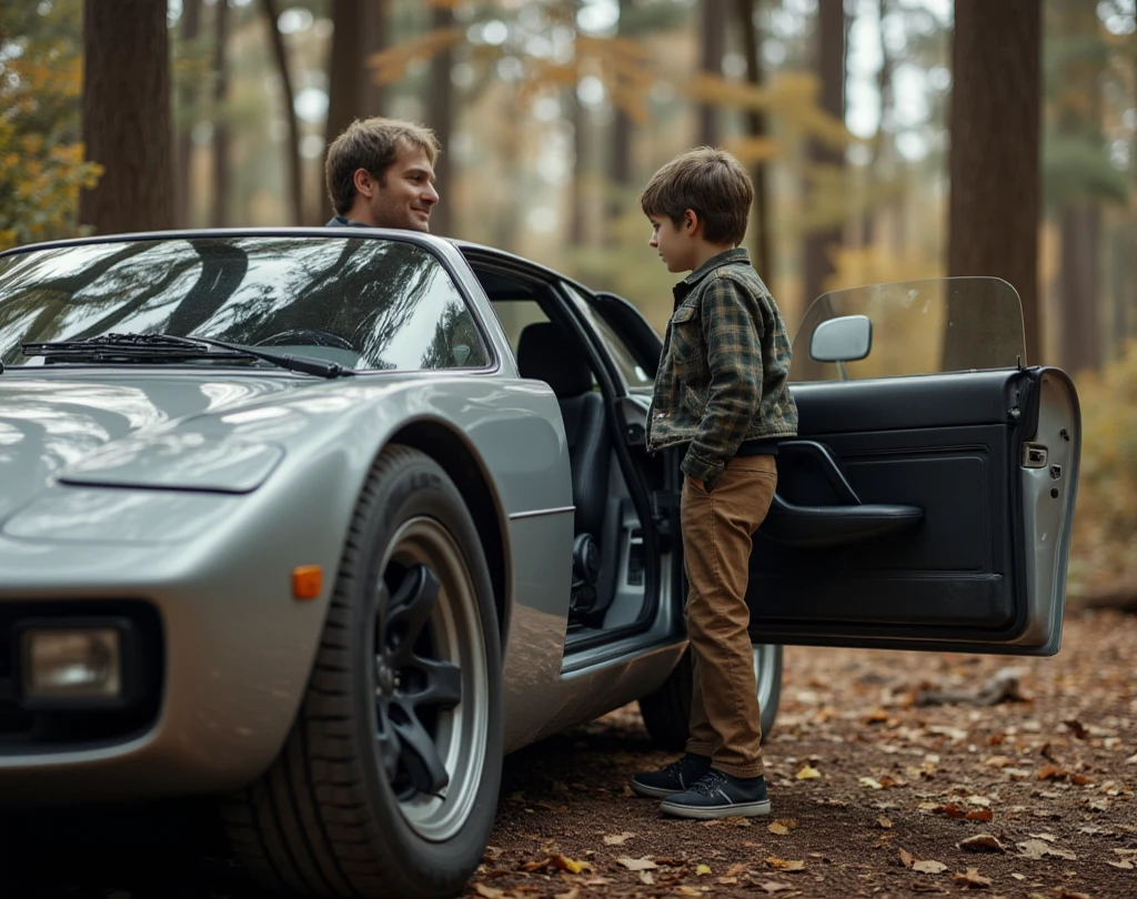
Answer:
[[335, 215], [329, 227], [430, 231], [438, 202], [434, 132], [393, 118], [356, 119], [327, 148], [324, 180]]

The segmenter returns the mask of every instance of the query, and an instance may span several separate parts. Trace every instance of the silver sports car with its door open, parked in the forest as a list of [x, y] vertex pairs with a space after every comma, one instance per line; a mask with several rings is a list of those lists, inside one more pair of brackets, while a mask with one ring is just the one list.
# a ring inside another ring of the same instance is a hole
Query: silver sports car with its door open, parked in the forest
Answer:
[[[216, 797], [269, 886], [435, 897], [503, 757], [690, 702], [661, 342], [620, 298], [368, 228], [0, 255], [0, 805]], [[1080, 419], [995, 278], [827, 294], [748, 602], [781, 646], [1048, 655]]]

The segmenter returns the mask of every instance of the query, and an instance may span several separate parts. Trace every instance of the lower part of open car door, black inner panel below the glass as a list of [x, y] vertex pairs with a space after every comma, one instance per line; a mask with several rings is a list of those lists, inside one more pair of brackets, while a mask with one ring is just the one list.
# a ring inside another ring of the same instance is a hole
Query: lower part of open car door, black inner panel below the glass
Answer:
[[[779, 456], [779, 501], [822, 517], [831, 510], [833, 519], [874, 508], [906, 519], [886, 534], [792, 546], [777, 539], [785, 510], [775, 502], [750, 560], [756, 639], [1056, 649], [1065, 577], [1056, 541], [1068, 540], [1078, 427], [1063, 373], [815, 383], [794, 393], [799, 441]], [[1044, 400], [1048, 418], [1040, 415]], [[1049, 466], [1023, 467], [1024, 447], [1036, 439], [1062, 456], [1053, 463], [1057, 476]], [[831, 524], [839, 533], [840, 522]]]

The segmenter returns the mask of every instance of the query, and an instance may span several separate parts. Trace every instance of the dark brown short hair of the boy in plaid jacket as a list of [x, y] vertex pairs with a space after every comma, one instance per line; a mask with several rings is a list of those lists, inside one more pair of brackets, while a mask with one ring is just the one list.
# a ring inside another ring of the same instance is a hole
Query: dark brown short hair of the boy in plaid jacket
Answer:
[[746, 236], [754, 184], [733, 156], [716, 147], [680, 153], [656, 172], [640, 194], [648, 216], [667, 216], [678, 227], [688, 209], [703, 222], [711, 243], [733, 243]]

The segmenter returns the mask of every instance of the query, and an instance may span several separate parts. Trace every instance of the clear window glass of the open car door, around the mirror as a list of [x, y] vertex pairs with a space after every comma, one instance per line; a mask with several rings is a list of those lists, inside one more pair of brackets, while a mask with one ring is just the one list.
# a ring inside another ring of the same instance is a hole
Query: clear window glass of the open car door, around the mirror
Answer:
[[[872, 323], [869, 355], [821, 363], [810, 356], [823, 322], [863, 315]], [[899, 281], [835, 290], [813, 301], [794, 336], [790, 380], [838, 381], [1027, 365], [1022, 305], [997, 277]]]

